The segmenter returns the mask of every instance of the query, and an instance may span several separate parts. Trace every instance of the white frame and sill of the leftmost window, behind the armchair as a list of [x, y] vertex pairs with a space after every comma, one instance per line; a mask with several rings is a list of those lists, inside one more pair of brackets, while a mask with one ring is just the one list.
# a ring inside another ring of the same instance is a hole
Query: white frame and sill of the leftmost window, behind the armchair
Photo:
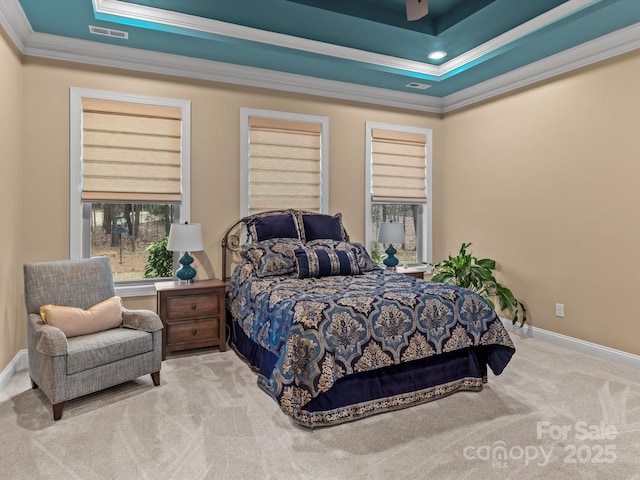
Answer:
[[[82, 99], [95, 98], [117, 102], [160, 105], [182, 110], [181, 132], [181, 196], [178, 206], [180, 223], [191, 218], [191, 102], [175, 98], [152, 97], [107, 90], [71, 87], [69, 89], [69, 258], [78, 260], [91, 255], [91, 204], [82, 195]], [[139, 201], [131, 203], [141, 203]], [[175, 257], [175, 255], [174, 255]], [[116, 281], [116, 294], [121, 297], [155, 295], [154, 283], [161, 279]]]

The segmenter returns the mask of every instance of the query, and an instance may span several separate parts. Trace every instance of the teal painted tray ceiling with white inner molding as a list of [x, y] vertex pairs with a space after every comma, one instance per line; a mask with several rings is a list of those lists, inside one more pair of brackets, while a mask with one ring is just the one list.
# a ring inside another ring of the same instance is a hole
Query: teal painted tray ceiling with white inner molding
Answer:
[[640, 0], [428, 0], [412, 22], [405, 0], [18, 2], [37, 33], [436, 98], [640, 22]]

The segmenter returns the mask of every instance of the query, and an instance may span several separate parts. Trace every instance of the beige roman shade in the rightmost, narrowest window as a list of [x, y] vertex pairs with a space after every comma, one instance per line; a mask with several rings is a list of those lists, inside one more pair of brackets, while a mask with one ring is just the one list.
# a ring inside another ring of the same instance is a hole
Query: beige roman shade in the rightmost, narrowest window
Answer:
[[371, 137], [372, 201], [425, 203], [426, 135], [374, 128]]

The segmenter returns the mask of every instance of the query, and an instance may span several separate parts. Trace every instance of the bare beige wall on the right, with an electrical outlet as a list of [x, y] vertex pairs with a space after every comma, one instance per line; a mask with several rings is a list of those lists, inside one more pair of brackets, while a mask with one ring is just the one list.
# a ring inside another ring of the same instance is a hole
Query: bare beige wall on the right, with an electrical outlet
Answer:
[[638, 78], [640, 51], [447, 115], [434, 173], [436, 256], [473, 242], [531, 324], [635, 354]]

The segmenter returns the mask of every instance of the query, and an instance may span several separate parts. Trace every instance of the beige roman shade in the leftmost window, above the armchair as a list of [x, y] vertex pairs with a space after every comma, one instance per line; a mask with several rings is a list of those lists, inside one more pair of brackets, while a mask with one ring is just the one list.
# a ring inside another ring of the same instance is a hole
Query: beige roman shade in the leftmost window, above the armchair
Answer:
[[180, 108], [84, 98], [82, 201], [181, 200]]

